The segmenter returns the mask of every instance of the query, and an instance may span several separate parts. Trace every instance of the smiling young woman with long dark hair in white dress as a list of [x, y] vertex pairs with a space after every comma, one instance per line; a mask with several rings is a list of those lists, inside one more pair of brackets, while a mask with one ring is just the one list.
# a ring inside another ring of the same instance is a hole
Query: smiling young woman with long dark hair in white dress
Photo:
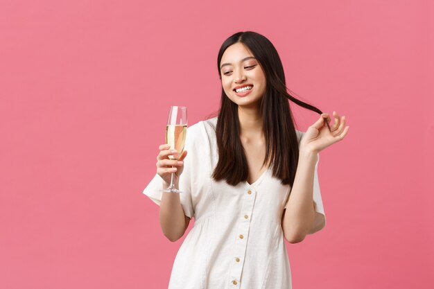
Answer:
[[[329, 126], [329, 114], [288, 94], [279, 55], [263, 35], [232, 35], [217, 64], [218, 117], [189, 127], [181, 155], [159, 146], [157, 174], [144, 190], [159, 204], [169, 240], [195, 218], [168, 287], [291, 288], [284, 239], [298, 243], [324, 227], [318, 152], [349, 127], [336, 112]], [[295, 130], [288, 100], [320, 118], [306, 132]], [[160, 191], [172, 172], [180, 194]]]

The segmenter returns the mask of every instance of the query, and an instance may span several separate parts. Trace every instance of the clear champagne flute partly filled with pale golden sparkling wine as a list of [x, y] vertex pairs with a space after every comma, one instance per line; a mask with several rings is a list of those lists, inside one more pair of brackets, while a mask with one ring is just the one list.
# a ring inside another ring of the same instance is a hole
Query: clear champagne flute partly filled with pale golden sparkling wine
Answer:
[[[166, 143], [171, 146], [170, 150], [177, 150], [177, 157], [180, 157], [184, 150], [186, 132], [187, 108], [184, 106], [171, 106], [166, 125]], [[177, 159], [177, 157], [169, 155], [169, 159]], [[173, 174], [171, 175], [171, 185], [167, 189], [162, 189], [162, 191], [167, 193], [182, 193], [173, 184]]]

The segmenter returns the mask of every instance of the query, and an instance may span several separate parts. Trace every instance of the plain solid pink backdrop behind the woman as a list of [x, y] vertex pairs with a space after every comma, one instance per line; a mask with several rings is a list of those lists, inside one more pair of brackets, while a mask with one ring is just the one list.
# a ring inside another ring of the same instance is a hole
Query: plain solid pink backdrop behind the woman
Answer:
[[0, 288], [167, 287], [182, 241], [141, 191], [169, 105], [218, 110], [239, 30], [351, 127], [321, 152], [327, 227], [288, 244], [294, 288], [434, 288], [433, 28], [429, 0], [1, 1]]

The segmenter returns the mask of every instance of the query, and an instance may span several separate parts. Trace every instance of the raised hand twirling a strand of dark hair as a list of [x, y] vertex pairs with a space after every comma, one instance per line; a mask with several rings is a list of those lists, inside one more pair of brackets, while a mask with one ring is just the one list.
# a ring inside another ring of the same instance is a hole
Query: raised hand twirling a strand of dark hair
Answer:
[[327, 113], [321, 114], [320, 119], [302, 137], [300, 150], [318, 153], [347, 135], [349, 126], [345, 126], [345, 116], [339, 116], [337, 112], [333, 112], [333, 116], [334, 123], [329, 130], [325, 122], [330, 121], [330, 116]]

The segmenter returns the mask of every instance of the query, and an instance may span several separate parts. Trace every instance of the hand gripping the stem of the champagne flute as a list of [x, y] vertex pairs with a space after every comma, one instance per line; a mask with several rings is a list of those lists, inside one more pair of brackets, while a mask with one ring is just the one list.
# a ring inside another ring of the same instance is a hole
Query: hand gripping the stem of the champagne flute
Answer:
[[[159, 154], [157, 155], [157, 174], [162, 177], [167, 184], [171, 183], [171, 174], [173, 174], [173, 183], [177, 184], [182, 170], [184, 169], [184, 158], [187, 155], [187, 151], [184, 150], [178, 159], [169, 159], [169, 155], [177, 157], [179, 154], [176, 150], [171, 150], [171, 146], [164, 143], [159, 148]], [[172, 168], [175, 166], [175, 168]]]

